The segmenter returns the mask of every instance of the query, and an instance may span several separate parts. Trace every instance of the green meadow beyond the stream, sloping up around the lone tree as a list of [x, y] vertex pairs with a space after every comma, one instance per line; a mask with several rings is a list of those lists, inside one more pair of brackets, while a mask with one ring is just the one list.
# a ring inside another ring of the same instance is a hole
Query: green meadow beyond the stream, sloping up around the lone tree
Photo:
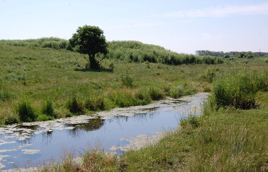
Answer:
[[209, 91], [207, 81], [211, 78], [206, 79], [206, 73], [217, 68], [196, 64], [193, 70], [191, 65], [131, 62], [124, 57], [107, 58], [102, 69], [88, 70], [84, 55], [75, 51], [3, 42], [1, 124], [90, 115], [114, 107], [148, 104], [166, 96]]

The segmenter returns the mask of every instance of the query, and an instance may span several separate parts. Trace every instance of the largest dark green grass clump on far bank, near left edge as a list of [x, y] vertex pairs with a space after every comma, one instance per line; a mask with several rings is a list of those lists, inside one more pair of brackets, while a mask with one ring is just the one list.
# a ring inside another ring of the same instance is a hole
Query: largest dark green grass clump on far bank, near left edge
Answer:
[[19, 102], [18, 113], [20, 121], [22, 122], [33, 122], [37, 118], [37, 113], [34, 110], [34, 107], [26, 100]]

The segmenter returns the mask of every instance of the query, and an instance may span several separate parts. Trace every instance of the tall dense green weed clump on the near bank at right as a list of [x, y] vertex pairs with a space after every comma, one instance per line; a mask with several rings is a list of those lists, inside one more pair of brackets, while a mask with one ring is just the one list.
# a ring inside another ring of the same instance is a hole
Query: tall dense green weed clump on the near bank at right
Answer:
[[213, 82], [211, 99], [215, 100], [217, 106], [255, 108], [256, 93], [268, 89], [267, 74], [267, 70], [242, 69], [236, 75], [219, 76]]

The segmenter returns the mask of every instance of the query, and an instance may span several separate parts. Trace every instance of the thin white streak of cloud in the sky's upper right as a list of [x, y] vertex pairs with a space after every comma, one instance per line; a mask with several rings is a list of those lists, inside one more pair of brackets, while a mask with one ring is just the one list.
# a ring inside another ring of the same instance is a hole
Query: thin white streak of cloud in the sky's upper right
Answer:
[[244, 6], [210, 7], [200, 10], [175, 11], [157, 14], [165, 17], [224, 17], [233, 14], [268, 15], [268, 3]]

